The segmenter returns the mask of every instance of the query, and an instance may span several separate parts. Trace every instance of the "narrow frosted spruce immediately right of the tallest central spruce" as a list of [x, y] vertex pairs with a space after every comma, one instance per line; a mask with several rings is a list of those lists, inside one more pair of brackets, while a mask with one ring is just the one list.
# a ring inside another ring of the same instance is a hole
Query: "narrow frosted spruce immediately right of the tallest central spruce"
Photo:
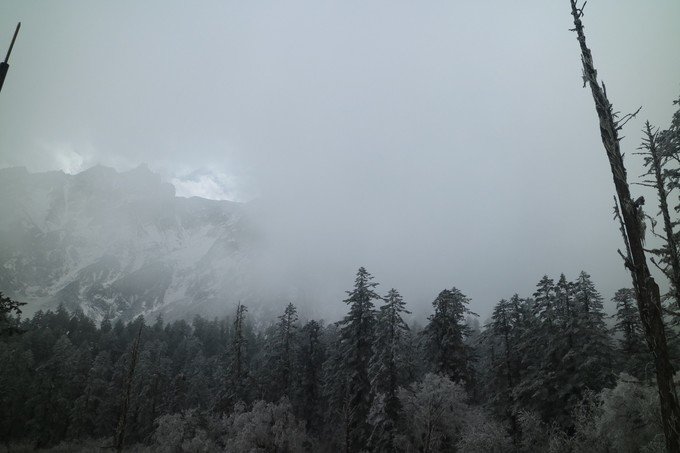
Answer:
[[376, 451], [398, 451], [395, 434], [399, 425], [401, 403], [397, 391], [408, 384], [407, 349], [409, 327], [403, 314], [410, 313], [399, 292], [392, 288], [377, 316], [373, 356], [369, 367], [374, 395], [380, 395], [373, 408], [370, 444]]

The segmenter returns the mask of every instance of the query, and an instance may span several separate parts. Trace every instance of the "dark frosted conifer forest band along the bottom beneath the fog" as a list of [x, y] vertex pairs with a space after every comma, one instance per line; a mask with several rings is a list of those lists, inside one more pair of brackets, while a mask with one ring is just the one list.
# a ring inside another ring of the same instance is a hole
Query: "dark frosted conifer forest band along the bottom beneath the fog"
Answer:
[[409, 326], [399, 292], [381, 295], [361, 268], [332, 324], [302, 322], [293, 304], [261, 328], [240, 304], [191, 323], [3, 314], [0, 438], [9, 450], [655, 451], [635, 297], [613, 300], [608, 329], [587, 273], [545, 276], [481, 327], [456, 288]]

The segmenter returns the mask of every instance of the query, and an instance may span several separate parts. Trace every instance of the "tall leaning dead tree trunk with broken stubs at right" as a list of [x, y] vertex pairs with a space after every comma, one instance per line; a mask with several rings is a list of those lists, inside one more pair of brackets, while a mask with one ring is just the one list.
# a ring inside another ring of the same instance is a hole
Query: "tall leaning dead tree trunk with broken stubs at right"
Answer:
[[[626, 179], [626, 168], [623, 165], [623, 157], [619, 147], [618, 131], [630, 118], [626, 115], [621, 120], [615, 119], [612, 104], [607, 98], [607, 91], [597, 81], [597, 71], [593, 64], [593, 57], [586, 45], [586, 37], [583, 32], [583, 7], [576, 5], [576, 0], [570, 0], [571, 14], [574, 18], [574, 31], [578, 35], [581, 47], [581, 62], [583, 63], [583, 83], [590, 85], [595, 110], [600, 120], [600, 136], [602, 144], [607, 152], [607, 158], [614, 177], [614, 186], [621, 205], [623, 232], [626, 242], [627, 256], [626, 267], [630, 270], [633, 279], [633, 287], [637, 298], [640, 318], [645, 329], [647, 345], [654, 356], [656, 366], [656, 381], [659, 390], [661, 417], [666, 448], [669, 452], [680, 452], [680, 407], [675, 393], [673, 382], [673, 367], [668, 356], [666, 333], [664, 330], [661, 311], [661, 297], [659, 286], [652, 278], [647, 259], [642, 245], [641, 220], [637, 214], [637, 207], [633, 203]], [[584, 3], [585, 5], [585, 3]]]

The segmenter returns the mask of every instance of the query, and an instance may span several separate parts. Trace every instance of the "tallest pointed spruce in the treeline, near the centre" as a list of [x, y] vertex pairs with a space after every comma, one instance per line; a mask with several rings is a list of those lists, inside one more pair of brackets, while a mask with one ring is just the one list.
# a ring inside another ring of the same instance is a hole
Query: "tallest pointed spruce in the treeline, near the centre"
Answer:
[[368, 367], [376, 323], [373, 301], [380, 299], [374, 291], [378, 284], [371, 280], [371, 274], [359, 268], [354, 289], [347, 292], [349, 297], [344, 301], [349, 313], [338, 323], [342, 363], [348, 373], [346, 451], [366, 448], [370, 434], [368, 414], [373, 395]]

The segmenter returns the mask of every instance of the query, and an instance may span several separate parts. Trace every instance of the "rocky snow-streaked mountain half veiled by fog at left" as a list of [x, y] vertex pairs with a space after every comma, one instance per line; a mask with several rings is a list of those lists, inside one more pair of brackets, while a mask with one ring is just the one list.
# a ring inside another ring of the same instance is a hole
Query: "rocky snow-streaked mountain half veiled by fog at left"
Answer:
[[0, 170], [0, 291], [27, 312], [130, 319], [217, 315], [258, 299], [247, 207], [180, 198], [141, 166]]

